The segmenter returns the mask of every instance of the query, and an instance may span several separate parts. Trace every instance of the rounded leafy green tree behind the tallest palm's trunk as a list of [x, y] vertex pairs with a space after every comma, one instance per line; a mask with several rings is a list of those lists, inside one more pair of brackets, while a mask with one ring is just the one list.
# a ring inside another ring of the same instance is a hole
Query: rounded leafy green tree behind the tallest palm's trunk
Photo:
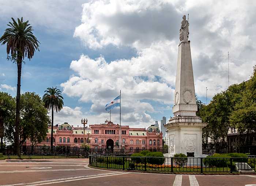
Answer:
[[[14, 99], [11, 96], [10, 100]], [[12, 108], [15, 113], [15, 106]], [[45, 139], [50, 123], [47, 110], [44, 108], [44, 103], [38, 94], [26, 92], [20, 96], [20, 137], [19, 146], [29, 139], [31, 145], [42, 142]], [[7, 121], [14, 121], [15, 115], [8, 116]], [[13, 130], [14, 122], [6, 122], [4, 125], [5, 138], [9, 143], [15, 141], [15, 132]]]

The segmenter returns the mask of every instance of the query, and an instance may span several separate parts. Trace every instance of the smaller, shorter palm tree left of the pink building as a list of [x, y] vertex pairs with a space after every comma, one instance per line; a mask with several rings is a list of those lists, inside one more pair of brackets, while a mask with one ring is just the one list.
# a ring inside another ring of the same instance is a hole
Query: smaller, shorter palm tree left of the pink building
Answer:
[[53, 110], [59, 112], [63, 108], [63, 97], [61, 91], [55, 88], [47, 88], [43, 96], [45, 108], [50, 111], [52, 110], [52, 130], [51, 130], [51, 151], [53, 152]]

